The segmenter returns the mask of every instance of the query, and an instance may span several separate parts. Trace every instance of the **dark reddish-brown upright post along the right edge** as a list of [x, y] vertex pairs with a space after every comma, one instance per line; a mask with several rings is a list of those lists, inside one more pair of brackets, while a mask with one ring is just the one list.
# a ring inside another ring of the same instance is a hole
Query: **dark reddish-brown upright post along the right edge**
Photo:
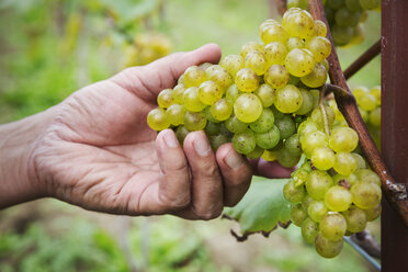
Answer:
[[[382, 157], [400, 185], [408, 183], [407, 14], [407, 0], [382, 1]], [[382, 265], [385, 272], [408, 271], [408, 228], [386, 201]]]

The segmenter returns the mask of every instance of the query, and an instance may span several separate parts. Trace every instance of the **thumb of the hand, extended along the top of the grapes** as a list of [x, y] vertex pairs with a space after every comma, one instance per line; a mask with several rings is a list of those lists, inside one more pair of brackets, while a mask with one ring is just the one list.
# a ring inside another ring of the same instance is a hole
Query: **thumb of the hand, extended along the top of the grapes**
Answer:
[[206, 44], [192, 52], [173, 53], [146, 66], [131, 67], [111, 80], [145, 99], [155, 99], [167, 88], [173, 88], [186, 68], [202, 63], [217, 64], [220, 48]]

